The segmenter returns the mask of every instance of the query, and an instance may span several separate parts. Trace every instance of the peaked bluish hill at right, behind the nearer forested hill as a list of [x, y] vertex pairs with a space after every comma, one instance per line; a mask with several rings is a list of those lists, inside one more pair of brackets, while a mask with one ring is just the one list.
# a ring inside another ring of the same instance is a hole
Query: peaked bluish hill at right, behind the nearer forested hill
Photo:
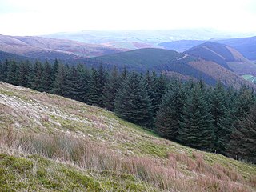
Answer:
[[253, 62], [244, 58], [234, 48], [217, 42], [205, 42], [186, 50], [184, 53], [206, 61], [216, 62], [238, 75], [256, 74], [256, 65]]

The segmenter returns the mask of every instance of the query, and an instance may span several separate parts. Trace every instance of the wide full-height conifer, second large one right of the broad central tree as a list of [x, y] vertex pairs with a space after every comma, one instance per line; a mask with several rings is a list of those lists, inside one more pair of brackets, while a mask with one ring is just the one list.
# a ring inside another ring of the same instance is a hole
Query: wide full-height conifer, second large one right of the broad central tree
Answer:
[[178, 140], [199, 150], [214, 150], [214, 126], [210, 104], [200, 86], [194, 86], [183, 107]]

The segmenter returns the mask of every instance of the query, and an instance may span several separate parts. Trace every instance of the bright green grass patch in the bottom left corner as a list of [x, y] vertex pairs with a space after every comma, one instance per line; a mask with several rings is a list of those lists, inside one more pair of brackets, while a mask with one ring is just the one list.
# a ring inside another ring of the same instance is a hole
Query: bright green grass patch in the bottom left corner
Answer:
[[0, 190], [145, 191], [146, 186], [129, 174], [79, 170], [38, 155], [15, 157], [0, 154]]

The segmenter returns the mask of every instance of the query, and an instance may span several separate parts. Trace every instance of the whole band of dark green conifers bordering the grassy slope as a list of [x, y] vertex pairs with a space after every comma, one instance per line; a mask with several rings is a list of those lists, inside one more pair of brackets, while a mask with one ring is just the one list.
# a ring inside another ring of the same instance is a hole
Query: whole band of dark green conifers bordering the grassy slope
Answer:
[[256, 97], [246, 85], [7, 59], [0, 81], [103, 107], [163, 138], [256, 163]]

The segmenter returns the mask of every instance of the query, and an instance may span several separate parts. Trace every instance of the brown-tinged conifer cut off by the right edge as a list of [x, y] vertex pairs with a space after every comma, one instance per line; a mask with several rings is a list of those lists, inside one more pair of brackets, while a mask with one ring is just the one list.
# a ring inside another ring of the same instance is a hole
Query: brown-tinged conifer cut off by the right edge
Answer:
[[247, 118], [242, 118], [230, 136], [230, 157], [256, 163], [256, 104], [251, 107]]

